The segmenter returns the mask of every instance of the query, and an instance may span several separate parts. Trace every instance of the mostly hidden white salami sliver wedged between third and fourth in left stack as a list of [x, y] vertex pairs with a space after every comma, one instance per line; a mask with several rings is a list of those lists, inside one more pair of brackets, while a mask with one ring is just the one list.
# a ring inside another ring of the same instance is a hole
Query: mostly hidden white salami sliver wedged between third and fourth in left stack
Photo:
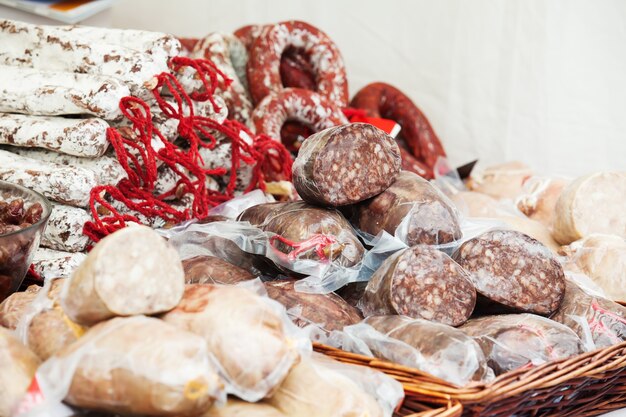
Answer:
[[43, 149], [20, 149], [11, 148], [9, 150], [17, 155], [36, 159], [38, 161], [52, 162], [68, 167], [84, 168], [92, 171], [96, 175], [98, 185], [116, 185], [122, 178], [126, 178], [126, 172], [119, 161], [110, 156], [99, 158], [79, 158], [71, 155], [63, 155]]

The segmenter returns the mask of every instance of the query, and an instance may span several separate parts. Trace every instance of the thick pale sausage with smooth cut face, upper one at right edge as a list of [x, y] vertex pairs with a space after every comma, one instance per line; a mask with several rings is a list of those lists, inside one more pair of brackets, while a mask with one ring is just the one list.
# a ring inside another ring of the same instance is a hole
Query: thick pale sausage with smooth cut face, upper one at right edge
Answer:
[[626, 238], [626, 172], [596, 172], [576, 179], [556, 203], [554, 238], [562, 245], [592, 233]]

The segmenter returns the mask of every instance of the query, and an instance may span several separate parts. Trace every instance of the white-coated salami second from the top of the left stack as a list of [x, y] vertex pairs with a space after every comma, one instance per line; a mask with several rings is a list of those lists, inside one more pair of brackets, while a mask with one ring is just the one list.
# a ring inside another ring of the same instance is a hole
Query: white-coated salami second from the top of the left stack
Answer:
[[122, 115], [120, 100], [129, 95], [128, 87], [111, 77], [0, 65], [0, 112], [115, 120]]

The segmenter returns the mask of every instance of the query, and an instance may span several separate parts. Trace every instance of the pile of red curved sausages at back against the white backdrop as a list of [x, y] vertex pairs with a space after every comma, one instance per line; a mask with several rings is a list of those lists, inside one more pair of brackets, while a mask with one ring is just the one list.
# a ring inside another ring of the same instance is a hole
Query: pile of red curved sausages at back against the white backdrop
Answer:
[[[301, 21], [249, 25], [233, 34], [182, 39], [189, 56], [214, 62], [232, 79], [220, 93], [231, 117], [297, 153], [312, 133], [361, 118], [391, 119], [401, 126], [402, 167], [424, 178], [445, 151], [426, 116], [397, 88], [376, 82], [349, 99], [346, 68], [337, 45]], [[348, 113], [346, 113], [348, 114]]]

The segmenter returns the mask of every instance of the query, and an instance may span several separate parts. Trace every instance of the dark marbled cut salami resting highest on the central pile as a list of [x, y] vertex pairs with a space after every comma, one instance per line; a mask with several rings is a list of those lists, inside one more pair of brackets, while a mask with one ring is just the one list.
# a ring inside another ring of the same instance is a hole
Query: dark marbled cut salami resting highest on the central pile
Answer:
[[400, 150], [391, 136], [372, 125], [351, 123], [304, 141], [293, 163], [293, 185], [312, 204], [355, 204], [385, 191], [400, 165]]

